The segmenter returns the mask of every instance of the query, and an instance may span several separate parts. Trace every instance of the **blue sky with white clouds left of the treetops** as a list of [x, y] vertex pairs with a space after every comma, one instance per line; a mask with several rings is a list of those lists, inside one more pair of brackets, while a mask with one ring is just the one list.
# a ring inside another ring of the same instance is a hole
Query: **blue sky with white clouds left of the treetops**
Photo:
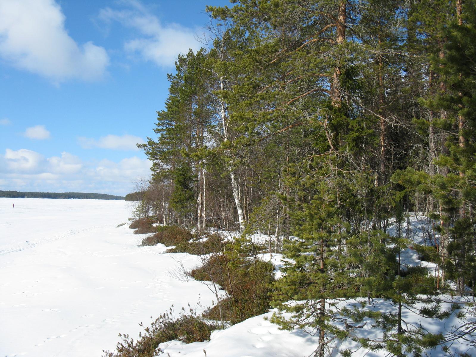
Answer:
[[228, 0], [1, 0], [0, 189], [125, 195], [166, 74]]

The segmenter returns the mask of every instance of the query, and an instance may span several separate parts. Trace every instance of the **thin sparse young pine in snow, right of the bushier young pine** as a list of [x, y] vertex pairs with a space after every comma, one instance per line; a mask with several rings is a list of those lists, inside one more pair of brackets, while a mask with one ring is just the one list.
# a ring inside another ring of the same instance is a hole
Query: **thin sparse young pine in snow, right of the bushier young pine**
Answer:
[[[385, 350], [389, 356], [422, 356], [426, 350], [435, 348], [445, 341], [443, 331], [429, 333], [425, 326], [405, 323], [402, 311], [411, 309], [422, 317], [444, 319], [450, 311], [441, 310], [437, 291], [432, 284], [433, 278], [428, 276], [425, 268], [406, 266], [401, 261], [401, 253], [410, 241], [405, 238], [407, 221], [400, 202], [395, 208], [394, 235], [392, 238], [393, 253], [397, 256], [396, 278], [393, 289], [387, 289], [381, 295], [394, 308], [388, 312], [370, 309], [355, 310], [354, 319], [361, 321], [364, 317], [373, 319], [373, 327], [383, 330], [377, 338], [355, 338], [361, 346], [370, 351]], [[350, 315], [352, 316], [352, 313]]]

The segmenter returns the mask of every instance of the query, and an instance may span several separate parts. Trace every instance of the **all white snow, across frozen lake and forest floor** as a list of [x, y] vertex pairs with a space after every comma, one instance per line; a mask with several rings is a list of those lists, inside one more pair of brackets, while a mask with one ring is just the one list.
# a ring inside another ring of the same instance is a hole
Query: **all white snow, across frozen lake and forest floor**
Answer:
[[[211, 306], [214, 296], [206, 283], [177, 278], [178, 265], [192, 268], [198, 265], [198, 257], [166, 254], [163, 245], [138, 247], [143, 236], [133, 235], [129, 224], [117, 227], [128, 222], [129, 214], [124, 201], [0, 198], [0, 357], [99, 357], [102, 349], [114, 350], [119, 332], [137, 337], [140, 321], [149, 326], [172, 304], [176, 312], [182, 307], [188, 310], [188, 304], [198, 313]], [[424, 230], [413, 221], [412, 230], [421, 238]], [[411, 249], [403, 256], [408, 263], [434, 268], [418, 262]], [[261, 258], [273, 262], [279, 278], [282, 255]], [[356, 300], [339, 304], [351, 308]], [[394, 309], [382, 299], [374, 299], [374, 304], [369, 308]], [[210, 341], [187, 345], [174, 340], [159, 347], [169, 357], [313, 354], [317, 336], [298, 329], [280, 330], [269, 322], [271, 314], [214, 331]], [[444, 321], [425, 319], [407, 309], [403, 314], [408, 324], [421, 324], [431, 332], [445, 332], [459, 324], [455, 314]], [[372, 321], [364, 322], [358, 336], [381, 336]], [[385, 356], [383, 351], [359, 348], [351, 340], [335, 342], [332, 356], [346, 348], [354, 352], [353, 357]], [[458, 341], [451, 350], [476, 356]], [[428, 355], [446, 353], [437, 347]]]

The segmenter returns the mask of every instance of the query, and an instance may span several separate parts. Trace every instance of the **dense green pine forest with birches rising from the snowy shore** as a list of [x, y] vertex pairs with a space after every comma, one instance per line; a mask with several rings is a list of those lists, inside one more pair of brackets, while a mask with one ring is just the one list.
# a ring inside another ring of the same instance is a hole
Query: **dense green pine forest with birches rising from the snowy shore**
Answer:
[[[274, 308], [280, 328], [315, 337], [317, 357], [351, 356], [347, 340], [382, 356], [474, 356], [476, 1], [231, 2], [207, 7], [202, 49], [168, 76], [138, 144], [152, 175], [135, 218], [175, 235], [238, 232], [181, 250], [201, 252], [192, 276], [227, 292], [213, 321]], [[280, 278], [260, 254], [282, 255]], [[460, 323], [434, 331], [407, 310]]]

